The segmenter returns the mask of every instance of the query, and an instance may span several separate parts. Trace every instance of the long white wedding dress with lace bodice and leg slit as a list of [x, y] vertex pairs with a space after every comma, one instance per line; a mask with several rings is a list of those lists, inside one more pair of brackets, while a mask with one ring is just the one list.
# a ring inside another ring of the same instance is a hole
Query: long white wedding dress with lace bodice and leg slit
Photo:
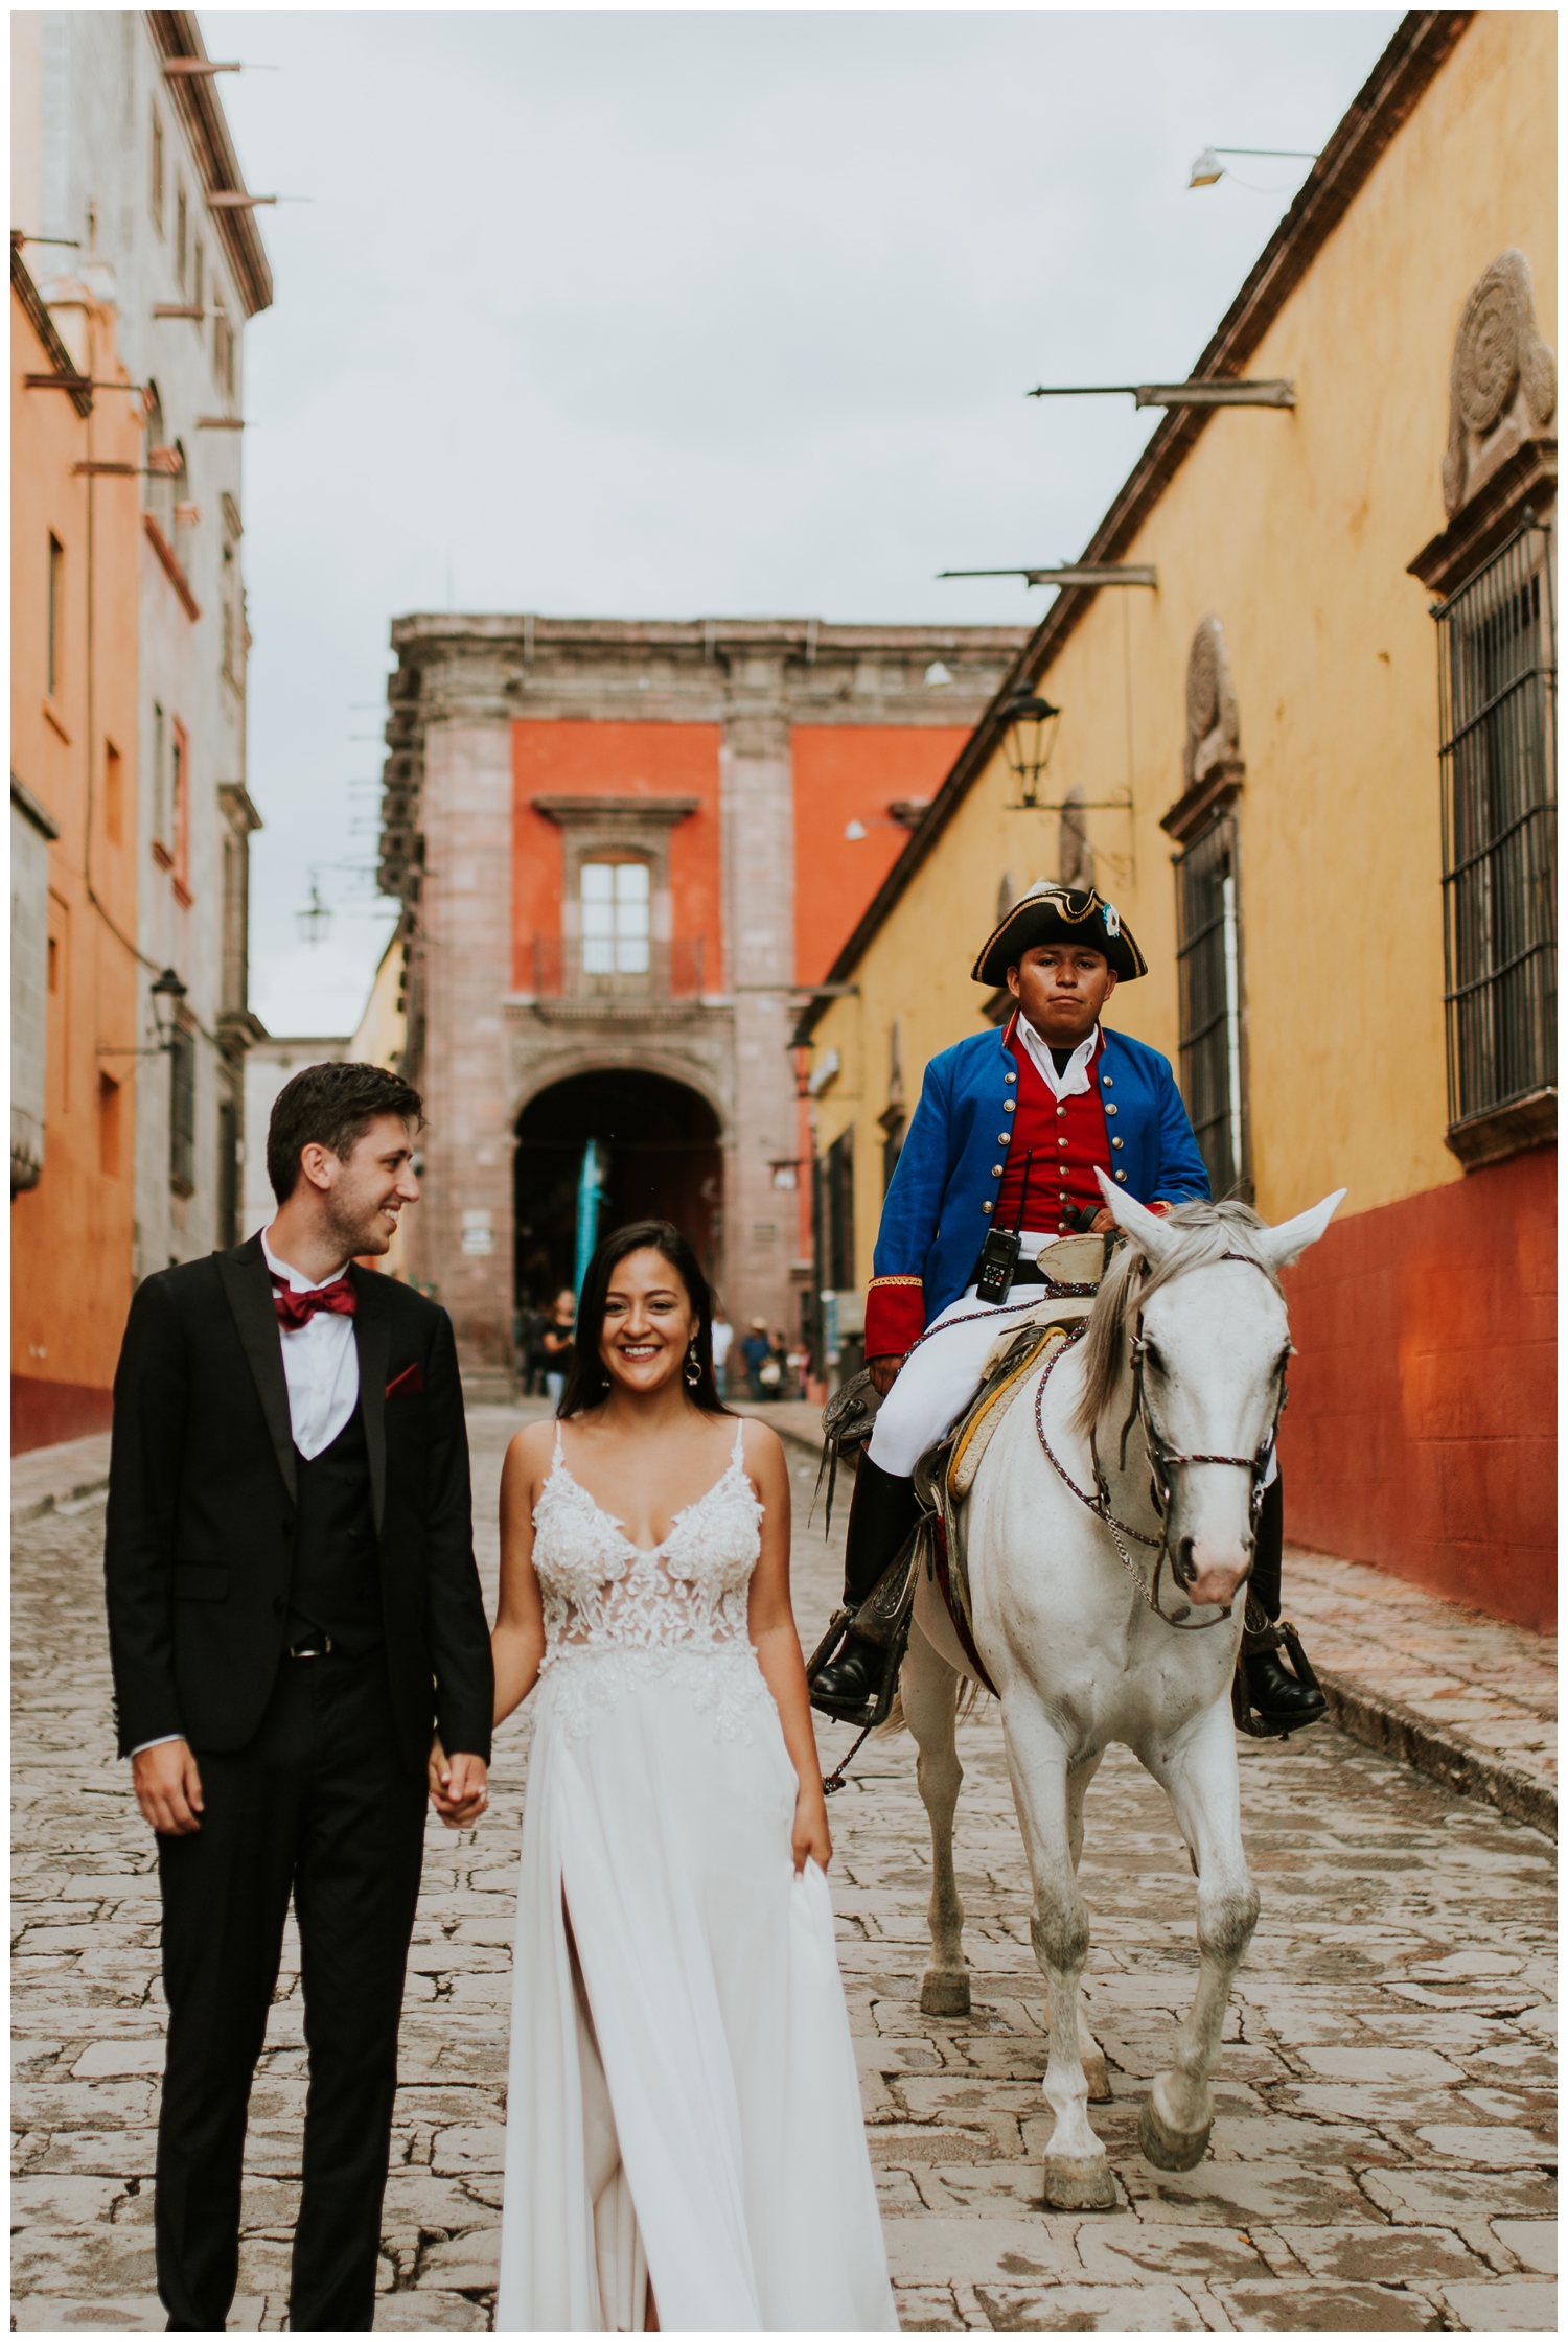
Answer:
[[666, 2333], [898, 2326], [827, 1881], [795, 1876], [745, 1628], [759, 1518], [736, 1431], [663, 1546], [633, 1546], [555, 1431], [499, 2333], [640, 2330], [649, 2279]]

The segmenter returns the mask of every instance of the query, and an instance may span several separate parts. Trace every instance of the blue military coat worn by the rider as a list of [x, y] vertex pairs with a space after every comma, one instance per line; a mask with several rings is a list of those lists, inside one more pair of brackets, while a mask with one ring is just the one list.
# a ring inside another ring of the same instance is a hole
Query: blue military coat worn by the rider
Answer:
[[[1104, 1033], [1104, 1070], [1116, 1087], [1116, 1129], [1123, 1141], [1118, 1180], [1139, 1204], [1186, 1201], [1209, 1192], [1193, 1124], [1170, 1059], [1125, 1033]], [[1003, 1075], [1015, 1059], [1005, 1028], [973, 1033], [926, 1066], [893, 1185], [881, 1206], [874, 1279], [921, 1283], [926, 1326], [959, 1300], [975, 1274], [996, 1194], [996, 1127]], [[1125, 1171], [1125, 1178], [1123, 1178]]]

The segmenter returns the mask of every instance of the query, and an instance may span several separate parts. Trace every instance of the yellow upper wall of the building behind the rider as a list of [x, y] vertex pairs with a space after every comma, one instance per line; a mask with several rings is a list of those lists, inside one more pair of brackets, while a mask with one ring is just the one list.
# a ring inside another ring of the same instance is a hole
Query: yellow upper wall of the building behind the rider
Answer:
[[[1448, 363], [1474, 281], [1516, 246], [1556, 347], [1556, 19], [1479, 14], [1247, 363], [1294, 410], [1221, 412], [1127, 562], [1041, 677], [1062, 705], [1043, 796], [1090, 813], [1104, 892], [1151, 974], [1109, 1023], [1177, 1061], [1177, 902], [1160, 815], [1181, 796], [1186, 660], [1223, 623], [1247, 766], [1238, 808], [1252, 1169], [1277, 1220], [1329, 1187], [1369, 1211], [1460, 1178], [1444, 1148], [1437, 630], [1406, 574], [1444, 527]], [[1193, 194], [1193, 201], [1202, 201]], [[1052, 415], [1041, 417], [1043, 436]], [[1048, 459], [1048, 443], [1043, 459]], [[994, 761], [830, 1007], [841, 1070], [818, 1145], [855, 1122], [863, 1279], [881, 1211], [891, 1023], [905, 1089], [982, 1026], [968, 965], [1015, 888], [1057, 871], [1057, 815], [1005, 810]]]

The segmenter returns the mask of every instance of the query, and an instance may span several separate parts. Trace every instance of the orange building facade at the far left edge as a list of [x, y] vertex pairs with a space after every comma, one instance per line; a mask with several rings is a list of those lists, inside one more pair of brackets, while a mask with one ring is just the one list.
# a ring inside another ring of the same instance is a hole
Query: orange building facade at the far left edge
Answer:
[[52, 314], [12, 248], [14, 1450], [108, 1426], [131, 1302], [143, 415], [98, 290]]

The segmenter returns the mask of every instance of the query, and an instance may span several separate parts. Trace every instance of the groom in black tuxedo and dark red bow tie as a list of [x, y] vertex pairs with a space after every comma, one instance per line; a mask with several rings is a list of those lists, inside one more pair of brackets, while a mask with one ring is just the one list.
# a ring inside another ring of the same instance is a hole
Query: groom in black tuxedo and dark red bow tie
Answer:
[[157, 1831], [169, 2056], [157, 2290], [220, 2330], [246, 2105], [293, 1895], [309, 2045], [295, 2333], [368, 2330], [424, 1787], [485, 1808], [492, 1675], [443, 1309], [356, 1267], [420, 1187], [420, 1098], [309, 1066], [267, 1134], [272, 1225], [150, 1276], [115, 1377], [120, 1754]]

